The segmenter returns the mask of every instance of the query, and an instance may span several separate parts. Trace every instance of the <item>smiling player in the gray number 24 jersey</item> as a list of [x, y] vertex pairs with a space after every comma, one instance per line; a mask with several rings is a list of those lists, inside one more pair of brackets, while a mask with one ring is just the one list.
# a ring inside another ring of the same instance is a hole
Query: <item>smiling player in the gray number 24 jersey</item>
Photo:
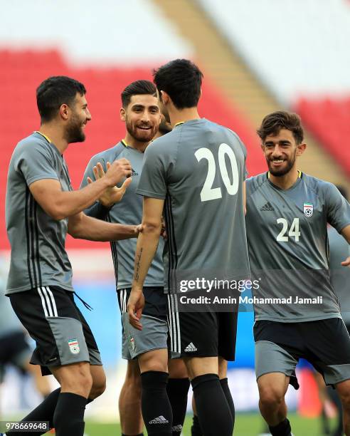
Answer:
[[272, 435], [291, 434], [285, 393], [289, 383], [298, 387], [295, 366], [306, 358], [336, 387], [350, 435], [350, 338], [329, 277], [327, 237], [329, 222], [350, 242], [350, 205], [331, 183], [297, 170], [307, 145], [296, 114], [267, 115], [258, 135], [268, 171], [246, 182], [246, 225], [260, 280], [253, 291], [260, 412]]

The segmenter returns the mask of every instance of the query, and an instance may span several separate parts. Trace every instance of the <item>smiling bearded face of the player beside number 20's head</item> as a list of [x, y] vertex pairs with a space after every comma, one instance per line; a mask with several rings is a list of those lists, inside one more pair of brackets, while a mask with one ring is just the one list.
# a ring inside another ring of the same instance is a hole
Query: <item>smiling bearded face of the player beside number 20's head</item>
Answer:
[[135, 140], [151, 141], [161, 120], [157, 98], [150, 94], [132, 95], [127, 107], [120, 110], [120, 118]]

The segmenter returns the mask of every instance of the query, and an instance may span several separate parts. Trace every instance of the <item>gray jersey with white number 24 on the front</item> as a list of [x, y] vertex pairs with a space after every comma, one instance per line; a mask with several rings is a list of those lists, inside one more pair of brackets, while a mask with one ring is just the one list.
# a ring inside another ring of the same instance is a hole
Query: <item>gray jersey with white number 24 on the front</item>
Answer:
[[268, 173], [247, 187], [247, 237], [255, 320], [316, 321], [340, 317], [329, 276], [327, 222], [340, 232], [350, 205], [334, 185], [300, 173], [281, 190]]

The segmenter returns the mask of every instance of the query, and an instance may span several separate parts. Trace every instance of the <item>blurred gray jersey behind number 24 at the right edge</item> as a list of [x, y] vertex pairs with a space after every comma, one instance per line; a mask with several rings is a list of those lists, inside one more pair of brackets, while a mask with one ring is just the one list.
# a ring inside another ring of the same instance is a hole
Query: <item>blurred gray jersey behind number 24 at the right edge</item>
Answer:
[[350, 324], [350, 268], [341, 262], [350, 256], [350, 246], [334, 227], [328, 229], [331, 283], [338, 296], [344, 323]]

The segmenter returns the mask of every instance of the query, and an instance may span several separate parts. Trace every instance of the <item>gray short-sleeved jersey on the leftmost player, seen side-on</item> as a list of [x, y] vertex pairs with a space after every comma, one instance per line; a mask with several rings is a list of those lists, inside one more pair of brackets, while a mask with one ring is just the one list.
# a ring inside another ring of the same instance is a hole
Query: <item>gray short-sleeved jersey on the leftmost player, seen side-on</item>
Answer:
[[6, 294], [39, 286], [73, 291], [72, 268], [65, 251], [68, 219], [56, 221], [43, 211], [29, 190], [41, 179], [55, 179], [72, 190], [65, 160], [40, 133], [18, 142], [9, 165], [6, 189], [6, 229], [11, 263]]

